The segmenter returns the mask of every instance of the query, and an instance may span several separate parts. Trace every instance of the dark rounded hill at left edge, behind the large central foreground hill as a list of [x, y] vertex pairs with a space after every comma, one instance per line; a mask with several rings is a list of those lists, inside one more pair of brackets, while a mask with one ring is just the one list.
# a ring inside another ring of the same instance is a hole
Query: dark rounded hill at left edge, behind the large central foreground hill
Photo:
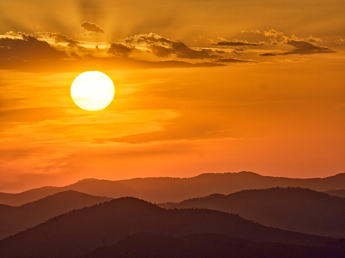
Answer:
[[69, 212], [72, 209], [109, 200], [111, 198], [92, 196], [70, 190], [49, 195], [19, 207], [0, 205], [0, 239], [34, 227], [51, 217]]

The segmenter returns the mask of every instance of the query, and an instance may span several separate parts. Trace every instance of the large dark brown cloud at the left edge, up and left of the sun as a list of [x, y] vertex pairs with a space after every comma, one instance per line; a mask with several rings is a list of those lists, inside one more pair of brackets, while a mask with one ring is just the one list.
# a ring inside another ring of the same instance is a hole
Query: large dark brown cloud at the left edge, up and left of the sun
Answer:
[[19, 32], [21, 39], [0, 38], [0, 60], [29, 61], [67, 58], [68, 55], [48, 42]]

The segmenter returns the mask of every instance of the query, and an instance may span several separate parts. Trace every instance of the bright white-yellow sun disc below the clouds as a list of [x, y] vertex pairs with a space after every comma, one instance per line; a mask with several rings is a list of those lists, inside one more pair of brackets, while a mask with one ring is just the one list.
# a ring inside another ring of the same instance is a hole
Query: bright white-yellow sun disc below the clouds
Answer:
[[114, 83], [106, 74], [98, 71], [79, 74], [71, 85], [74, 103], [84, 110], [97, 111], [106, 108], [114, 95]]

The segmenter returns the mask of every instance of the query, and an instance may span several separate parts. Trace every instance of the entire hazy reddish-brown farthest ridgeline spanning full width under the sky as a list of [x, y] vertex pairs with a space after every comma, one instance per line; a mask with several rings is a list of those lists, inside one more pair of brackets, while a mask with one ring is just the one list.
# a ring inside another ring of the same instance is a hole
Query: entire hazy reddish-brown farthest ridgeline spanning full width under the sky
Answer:
[[345, 173], [327, 178], [293, 179], [262, 176], [253, 172], [207, 173], [193, 178], [135, 178], [109, 181], [84, 179], [64, 187], [54, 187], [17, 194], [0, 193], [0, 203], [21, 205], [38, 200], [50, 194], [66, 190], [92, 195], [118, 198], [135, 196], [151, 202], [180, 202], [190, 197], [206, 196], [212, 193], [229, 194], [245, 189], [269, 187], [305, 187], [316, 191], [345, 188]]

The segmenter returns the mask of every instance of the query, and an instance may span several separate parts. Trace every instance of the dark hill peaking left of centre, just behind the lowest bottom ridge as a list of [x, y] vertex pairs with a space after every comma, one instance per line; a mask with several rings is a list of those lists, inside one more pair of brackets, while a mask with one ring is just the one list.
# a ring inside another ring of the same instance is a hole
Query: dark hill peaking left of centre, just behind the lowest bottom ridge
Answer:
[[[122, 197], [59, 215], [0, 241], [0, 257], [73, 257], [127, 235], [150, 232], [174, 237], [222, 234], [251, 241], [308, 246], [344, 246], [344, 239], [265, 227], [234, 214], [209, 209], [170, 209]], [[340, 242], [339, 242], [340, 241]], [[338, 243], [339, 242], [339, 243]]]

